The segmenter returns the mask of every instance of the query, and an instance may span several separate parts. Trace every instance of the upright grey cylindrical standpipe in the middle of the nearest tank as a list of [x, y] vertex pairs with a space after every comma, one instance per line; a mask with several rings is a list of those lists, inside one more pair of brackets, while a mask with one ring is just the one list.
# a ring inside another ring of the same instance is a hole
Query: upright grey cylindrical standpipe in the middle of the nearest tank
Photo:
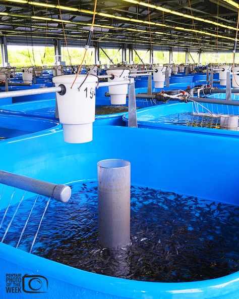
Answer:
[[99, 244], [125, 247], [130, 243], [130, 162], [102, 160], [97, 171]]

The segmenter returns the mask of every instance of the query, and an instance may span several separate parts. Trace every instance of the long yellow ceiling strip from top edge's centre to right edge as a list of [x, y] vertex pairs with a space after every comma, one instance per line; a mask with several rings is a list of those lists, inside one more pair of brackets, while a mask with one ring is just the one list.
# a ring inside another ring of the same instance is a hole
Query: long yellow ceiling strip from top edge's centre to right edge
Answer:
[[[172, 11], [170, 9], [166, 9], [164, 7], [161, 7], [161, 6], [156, 6], [156, 5], [152, 5], [152, 4], [148, 4], [148, 3], [140, 2], [140, 1], [136, 1], [136, 0], [122, 0], [122, 1], [133, 3], [133, 4], [138, 4], [138, 5], [141, 5], [141, 6], [145, 6], [145, 7], [148, 7], [148, 8], [152, 8], [152, 9], [155, 9], [155, 10], [158, 10], [158, 11], [161, 11], [161, 12], [165, 12], [165, 13], [169, 13], [169, 14], [173, 14], [173, 15], [176, 15], [176, 16], [181, 16], [181, 17], [184, 17], [184, 18], [189, 18], [189, 19], [201, 21], [201, 22], [208, 23], [208, 24], [213, 24], [215, 26], [220, 26], [220, 27], [223, 27], [223, 28], [236, 30], [236, 28], [232, 27], [232, 26], [227, 26], [227, 25], [224, 25], [224, 24], [221, 24], [221, 23], [217, 23], [217, 22], [214, 22], [214, 21], [210, 21], [210, 20], [207, 20], [207, 19], [203, 19], [203, 18], [198, 18], [198, 17], [191, 16], [191, 15], [182, 14], [180, 12], [175, 12], [175, 11]], [[232, 0], [223, 0], [223, 1], [233, 2]]]

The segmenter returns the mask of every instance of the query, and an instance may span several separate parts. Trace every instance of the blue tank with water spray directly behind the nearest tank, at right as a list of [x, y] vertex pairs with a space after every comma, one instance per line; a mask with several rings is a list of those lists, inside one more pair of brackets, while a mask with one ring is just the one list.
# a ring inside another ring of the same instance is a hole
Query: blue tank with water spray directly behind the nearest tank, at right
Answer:
[[[211, 113], [214, 116], [211, 117]], [[239, 136], [238, 130], [220, 129], [221, 114], [239, 115], [239, 108], [206, 103], [170, 102], [167, 105], [138, 111], [137, 122], [141, 128]], [[123, 120], [128, 123], [128, 114], [123, 116]]]

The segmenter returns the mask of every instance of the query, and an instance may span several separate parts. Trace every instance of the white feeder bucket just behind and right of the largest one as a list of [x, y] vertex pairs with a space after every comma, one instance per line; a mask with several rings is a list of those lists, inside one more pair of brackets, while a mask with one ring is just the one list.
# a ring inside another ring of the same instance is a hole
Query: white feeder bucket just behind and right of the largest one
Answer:
[[[129, 69], [109, 69], [107, 75], [112, 75], [112, 79], [108, 78], [108, 82], [124, 81], [129, 79]], [[110, 102], [112, 105], [126, 104], [126, 95], [128, 93], [128, 84], [109, 86]]]

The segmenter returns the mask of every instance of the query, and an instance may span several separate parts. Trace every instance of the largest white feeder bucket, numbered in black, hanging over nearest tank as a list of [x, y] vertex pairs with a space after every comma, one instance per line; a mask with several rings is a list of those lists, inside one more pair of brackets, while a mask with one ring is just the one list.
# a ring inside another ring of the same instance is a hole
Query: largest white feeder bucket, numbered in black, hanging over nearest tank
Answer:
[[71, 88], [75, 77], [76, 75], [58, 76], [54, 77], [52, 82], [56, 87], [61, 86], [65, 89], [64, 92], [56, 93], [59, 121], [63, 124], [65, 142], [84, 143], [93, 139], [95, 87], [98, 79], [92, 75], [88, 75], [87, 78], [86, 75], [78, 75]]

